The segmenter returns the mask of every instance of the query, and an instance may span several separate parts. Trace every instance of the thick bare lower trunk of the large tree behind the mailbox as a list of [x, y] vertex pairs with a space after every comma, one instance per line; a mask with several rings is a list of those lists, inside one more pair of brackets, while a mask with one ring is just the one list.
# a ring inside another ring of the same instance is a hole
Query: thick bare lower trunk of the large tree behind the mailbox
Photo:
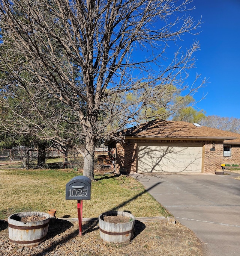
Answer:
[[83, 175], [94, 180], [94, 152], [95, 140], [91, 136], [86, 137], [85, 151], [83, 159]]

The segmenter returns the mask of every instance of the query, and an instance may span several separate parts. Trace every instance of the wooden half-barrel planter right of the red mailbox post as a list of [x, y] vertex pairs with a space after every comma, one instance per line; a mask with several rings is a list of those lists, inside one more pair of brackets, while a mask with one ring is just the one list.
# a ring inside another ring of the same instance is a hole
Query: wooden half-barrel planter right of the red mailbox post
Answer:
[[[106, 216], [126, 217], [124, 223], [112, 223], [104, 221]], [[105, 242], [127, 243], [131, 240], [134, 232], [135, 217], [129, 212], [114, 211], [105, 212], [98, 217], [100, 238]]]

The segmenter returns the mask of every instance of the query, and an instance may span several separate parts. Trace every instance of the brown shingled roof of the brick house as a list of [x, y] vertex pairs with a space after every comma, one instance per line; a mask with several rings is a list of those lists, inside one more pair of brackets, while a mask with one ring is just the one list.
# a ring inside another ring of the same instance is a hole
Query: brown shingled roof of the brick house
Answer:
[[[158, 139], [234, 139], [240, 144], [240, 134], [226, 132], [206, 126], [196, 127], [194, 124], [183, 121], [166, 121], [155, 119], [139, 126], [134, 126], [120, 132], [126, 138], [158, 138]], [[227, 141], [232, 144], [232, 141]], [[233, 142], [234, 142], [233, 141]], [[225, 143], [225, 142], [224, 142]]]

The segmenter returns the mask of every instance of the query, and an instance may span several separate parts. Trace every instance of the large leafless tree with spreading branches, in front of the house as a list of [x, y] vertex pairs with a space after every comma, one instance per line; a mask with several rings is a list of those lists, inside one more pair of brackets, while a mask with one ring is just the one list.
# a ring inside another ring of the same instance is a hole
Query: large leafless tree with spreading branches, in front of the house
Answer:
[[122, 139], [115, 132], [141, 121], [152, 102], [170, 115], [175, 94], [201, 86], [184, 83], [198, 42], [165, 59], [169, 42], [196, 34], [201, 23], [186, 16], [191, 1], [180, 2], [2, 0], [0, 104], [12, 111], [8, 127], [64, 147], [83, 141], [83, 174], [94, 179], [99, 139]]

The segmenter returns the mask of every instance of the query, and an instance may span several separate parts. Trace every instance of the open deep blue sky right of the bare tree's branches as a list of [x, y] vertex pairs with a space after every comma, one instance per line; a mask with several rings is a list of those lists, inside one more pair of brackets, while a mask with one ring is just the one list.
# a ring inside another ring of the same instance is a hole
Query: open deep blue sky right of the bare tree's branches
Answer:
[[[190, 12], [195, 20], [202, 17], [201, 44], [196, 53], [196, 68], [191, 74], [207, 78], [205, 87], [194, 96], [198, 109], [206, 115], [240, 118], [240, 0], [193, 0]], [[186, 36], [190, 45], [193, 36]]]

